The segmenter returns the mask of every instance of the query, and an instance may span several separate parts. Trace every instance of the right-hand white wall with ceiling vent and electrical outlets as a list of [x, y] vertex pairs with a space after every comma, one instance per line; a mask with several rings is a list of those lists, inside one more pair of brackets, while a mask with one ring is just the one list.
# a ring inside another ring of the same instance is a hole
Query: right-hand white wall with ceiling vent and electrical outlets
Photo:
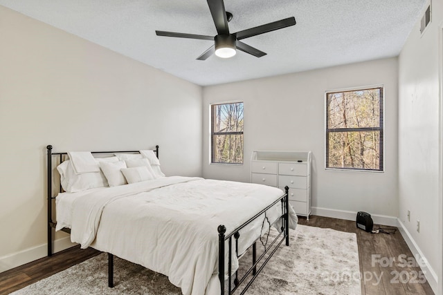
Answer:
[[[399, 56], [399, 220], [441, 288], [442, 1], [433, 1], [432, 12], [424, 35], [420, 36], [417, 22]], [[430, 283], [435, 289], [437, 283]]]

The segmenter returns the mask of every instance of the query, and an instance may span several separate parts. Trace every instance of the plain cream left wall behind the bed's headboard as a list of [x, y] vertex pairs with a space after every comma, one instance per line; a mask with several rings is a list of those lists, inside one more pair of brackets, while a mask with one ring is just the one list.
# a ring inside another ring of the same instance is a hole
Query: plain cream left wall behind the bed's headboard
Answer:
[[3, 6], [0, 44], [0, 272], [46, 253], [47, 144], [159, 144], [166, 174], [201, 176], [200, 86]]

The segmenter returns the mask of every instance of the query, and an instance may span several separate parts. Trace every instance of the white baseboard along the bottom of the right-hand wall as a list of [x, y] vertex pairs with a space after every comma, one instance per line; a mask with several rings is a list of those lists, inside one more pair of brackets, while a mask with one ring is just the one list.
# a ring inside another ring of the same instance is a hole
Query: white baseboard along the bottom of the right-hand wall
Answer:
[[[422, 269], [422, 272], [424, 272], [426, 276], [426, 280], [428, 280], [429, 285], [431, 285], [431, 288], [435, 292], [435, 294], [438, 294], [438, 277], [435, 273], [434, 269], [429, 265], [428, 260], [426, 257], [424, 257], [422, 251], [418, 247], [417, 243], [413, 239], [413, 237], [410, 235], [408, 229], [404, 226], [403, 222], [401, 220], [397, 219], [398, 222], [398, 229], [401, 233], [401, 236], [403, 236], [406, 244], [408, 245], [411, 252], [413, 252], [413, 256], [420, 259], [420, 262], [423, 262], [420, 264], [420, 268]], [[416, 259], [417, 260], [417, 259]]]

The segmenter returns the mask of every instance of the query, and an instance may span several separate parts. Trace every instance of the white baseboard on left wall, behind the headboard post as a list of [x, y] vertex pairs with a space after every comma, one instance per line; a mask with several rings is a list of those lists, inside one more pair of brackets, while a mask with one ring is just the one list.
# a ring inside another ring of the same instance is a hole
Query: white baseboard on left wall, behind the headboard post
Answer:
[[[71, 238], [66, 236], [54, 241], [54, 253], [68, 249], [77, 244], [71, 242]], [[43, 258], [48, 255], [48, 245], [42, 244], [36, 247], [28, 248], [22, 251], [18, 251], [7, 256], [0, 257], [0, 272], [5, 272], [8, 269], [30, 263], [39, 258]]]

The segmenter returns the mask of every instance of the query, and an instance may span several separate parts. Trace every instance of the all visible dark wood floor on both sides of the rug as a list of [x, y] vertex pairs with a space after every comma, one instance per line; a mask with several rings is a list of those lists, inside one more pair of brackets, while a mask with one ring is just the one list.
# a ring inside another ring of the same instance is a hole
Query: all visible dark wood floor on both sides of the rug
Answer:
[[[309, 221], [300, 218], [299, 223], [356, 233], [362, 295], [434, 294], [427, 282], [422, 283], [421, 270], [419, 267], [414, 267], [413, 261], [410, 260], [413, 254], [399, 231], [389, 235], [369, 234], [357, 229], [353, 221], [319, 216], [311, 216]], [[374, 225], [375, 229], [378, 227]], [[383, 228], [394, 229], [386, 226]], [[73, 247], [54, 254], [51, 258], [42, 258], [10, 269], [0, 274], [0, 295], [26, 287], [99, 253], [91, 248], [82, 250]]]

